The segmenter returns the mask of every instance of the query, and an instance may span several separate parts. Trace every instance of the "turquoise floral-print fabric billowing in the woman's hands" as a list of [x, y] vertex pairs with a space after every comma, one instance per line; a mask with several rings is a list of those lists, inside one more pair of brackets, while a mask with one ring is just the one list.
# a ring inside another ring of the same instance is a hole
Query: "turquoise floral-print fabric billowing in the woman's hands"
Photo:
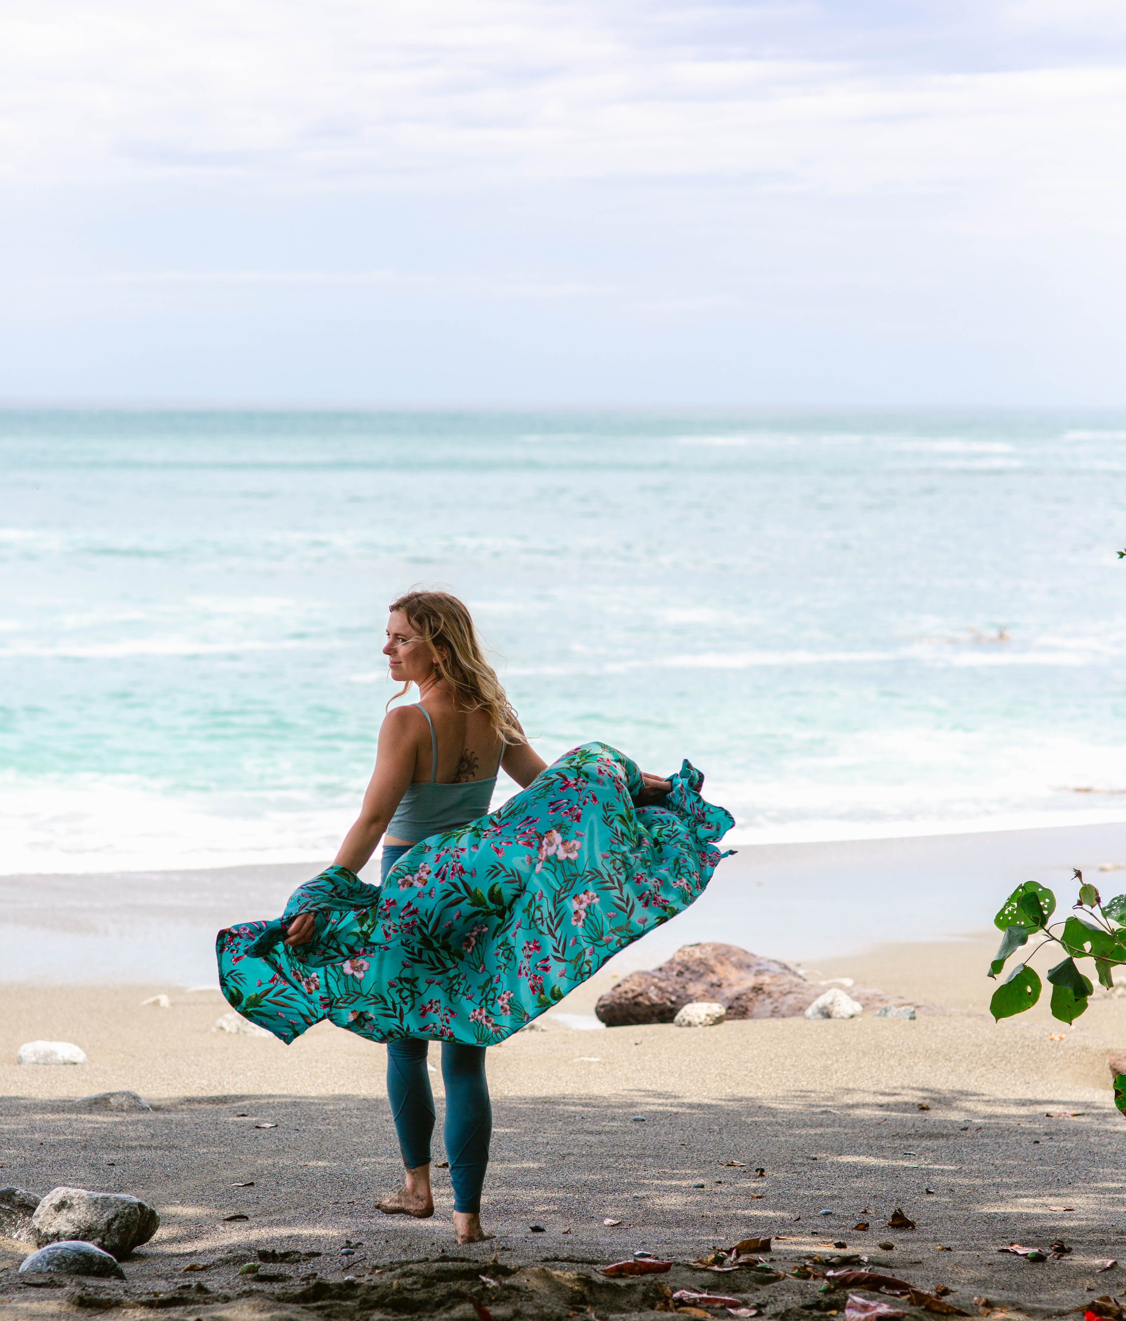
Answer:
[[[735, 824], [685, 762], [661, 807], [641, 771], [591, 742], [498, 811], [415, 844], [382, 886], [330, 867], [283, 917], [219, 931], [227, 1001], [289, 1044], [321, 1018], [371, 1041], [488, 1046], [698, 898]], [[299, 913], [313, 938], [283, 945]]]

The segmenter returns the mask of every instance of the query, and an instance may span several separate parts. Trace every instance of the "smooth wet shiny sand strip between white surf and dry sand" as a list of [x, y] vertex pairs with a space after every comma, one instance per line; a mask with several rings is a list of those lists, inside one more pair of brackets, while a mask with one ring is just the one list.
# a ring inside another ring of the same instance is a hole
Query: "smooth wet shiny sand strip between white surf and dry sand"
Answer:
[[[276, 917], [324, 865], [0, 876], [0, 984], [213, 984], [215, 933]], [[798, 964], [956, 939], [990, 927], [1022, 881], [1063, 904], [1073, 867], [1111, 894], [1122, 869], [1126, 890], [1126, 824], [741, 845], [695, 904], [609, 966], [654, 967], [682, 945], [719, 938]], [[375, 877], [378, 860], [365, 869]]]

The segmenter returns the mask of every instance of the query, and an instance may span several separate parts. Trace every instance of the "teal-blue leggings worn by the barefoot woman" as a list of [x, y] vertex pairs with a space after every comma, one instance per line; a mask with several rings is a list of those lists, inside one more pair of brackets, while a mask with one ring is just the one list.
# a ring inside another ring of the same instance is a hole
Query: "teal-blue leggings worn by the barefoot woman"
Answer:
[[[383, 880], [406, 853], [406, 845], [383, 845]], [[387, 1042], [387, 1096], [407, 1169], [430, 1162], [433, 1133], [433, 1092], [430, 1087], [430, 1042], [403, 1037]], [[481, 1185], [489, 1165], [493, 1107], [485, 1081], [485, 1048], [441, 1044], [441, 1081], [445, 1083], [445, 1155], [453, 1184], [453, 1210], [481, 1210]]]

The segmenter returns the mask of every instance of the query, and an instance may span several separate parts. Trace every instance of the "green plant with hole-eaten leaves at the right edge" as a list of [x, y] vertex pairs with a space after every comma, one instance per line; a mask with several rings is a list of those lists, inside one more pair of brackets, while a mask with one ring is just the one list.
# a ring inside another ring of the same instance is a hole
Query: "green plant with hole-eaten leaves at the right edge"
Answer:
[[[1043, 983], [1028, 960], [1047, 946], [1055, 945], [1055, 952], [1064, 955], [1044, 974], [1052, 987], [1052, 1016], [1061, 1022], [1074, 1022], [1094, 989], [1076, 959], [1090, 959], [1100, 985], [1107, 989], [1114, 985], [1114, 970], [1126, 964], [1126, 894], [1115, 894], [1104, 904], [1078, 868], [1072, 876], [1078, 881], [1078, 900], [1064, 921], [1051, 921], [1056, 896], [1036, 881], [1018, 885], [994, 918], [994, 925], [1004, 933], [996, 958], [989, 966], [994, 979], [1030, 937], [1040, 937], [1028, 956], [994, 991], [989, 1008], [998, 1021], [1031, 1009], [1040, 999]], [[1126, 1115], [1126, 1074], [1114, 1079], [1114, 1103]]]

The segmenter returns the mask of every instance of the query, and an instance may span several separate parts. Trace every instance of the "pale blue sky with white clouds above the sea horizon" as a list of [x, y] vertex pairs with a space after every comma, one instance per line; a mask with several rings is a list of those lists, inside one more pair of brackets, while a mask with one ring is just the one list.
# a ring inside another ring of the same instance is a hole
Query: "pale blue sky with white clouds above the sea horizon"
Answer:
[[0, 0], [0, 400], [1126, 402], [1121, 0]]

